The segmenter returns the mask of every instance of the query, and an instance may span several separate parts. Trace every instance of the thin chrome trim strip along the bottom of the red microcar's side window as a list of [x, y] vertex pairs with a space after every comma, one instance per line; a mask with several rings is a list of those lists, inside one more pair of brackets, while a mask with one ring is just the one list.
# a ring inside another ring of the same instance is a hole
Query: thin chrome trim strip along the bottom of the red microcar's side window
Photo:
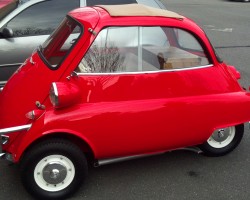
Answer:
[[200, 67], [186, 67], [181, 69], [165, 69], [165, 70], [158, 70], [158, 71], [138, 71], [138, 72], [113, 72], [113, 73], [76, 73], [78, 76], [114, 76], [114, 75], [133, 75], [133, 74], [155, 74], [155, 73], [166, 73], [166, 72], [177, 72], [177, 71], [185, 71], [185, 70], [196, 70], [196, 69], [203, 69], [213, 67], [213, 65], [204, 65]]

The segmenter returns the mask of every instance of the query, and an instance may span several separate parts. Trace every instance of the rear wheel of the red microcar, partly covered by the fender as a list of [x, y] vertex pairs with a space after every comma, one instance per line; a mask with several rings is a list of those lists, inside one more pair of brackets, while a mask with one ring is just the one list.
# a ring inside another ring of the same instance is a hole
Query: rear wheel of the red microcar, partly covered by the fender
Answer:
[[239, 145], [243, 133], [244, 124], [217, 129], [199, 147], [207, 156], [223, 156]]

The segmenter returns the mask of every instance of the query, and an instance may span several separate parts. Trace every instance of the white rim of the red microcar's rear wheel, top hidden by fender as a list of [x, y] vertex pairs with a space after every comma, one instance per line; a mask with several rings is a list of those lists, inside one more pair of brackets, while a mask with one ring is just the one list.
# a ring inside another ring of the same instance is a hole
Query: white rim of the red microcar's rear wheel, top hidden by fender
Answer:
[[229, 145], [235, 136], [235, 127], [227, 127], [222, 129], [217, 129], [213, 134], [208, 138], [207, 143], [214, 148], [223, 148]]

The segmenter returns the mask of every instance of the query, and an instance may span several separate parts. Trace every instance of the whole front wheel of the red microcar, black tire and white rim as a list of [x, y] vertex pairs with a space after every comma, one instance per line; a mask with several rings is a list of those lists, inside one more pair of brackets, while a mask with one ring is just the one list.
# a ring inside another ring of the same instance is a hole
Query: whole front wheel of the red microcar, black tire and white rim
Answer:
[[64, 199], [87, 175], [87, 160], [73, 143], [52, 139], [30, 149], [21, 163], [24, 187], [37, 199]]

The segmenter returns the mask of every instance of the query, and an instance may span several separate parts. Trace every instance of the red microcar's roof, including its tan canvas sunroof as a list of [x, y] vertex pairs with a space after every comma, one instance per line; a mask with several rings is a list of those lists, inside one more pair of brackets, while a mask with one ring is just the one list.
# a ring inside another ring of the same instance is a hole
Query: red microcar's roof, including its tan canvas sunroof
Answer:
[[169, 10], [152, 8], [145, 5], [123, 4], [82, 7], [70, 11], [68, 16], [82, 25], [88, 24], [87, 26], [91, 28], [95, 28], [99, 20], [99, 28], [106, 26], [167, 25], [186, 29], [206, 39], [204, 31], [192, 19]]

